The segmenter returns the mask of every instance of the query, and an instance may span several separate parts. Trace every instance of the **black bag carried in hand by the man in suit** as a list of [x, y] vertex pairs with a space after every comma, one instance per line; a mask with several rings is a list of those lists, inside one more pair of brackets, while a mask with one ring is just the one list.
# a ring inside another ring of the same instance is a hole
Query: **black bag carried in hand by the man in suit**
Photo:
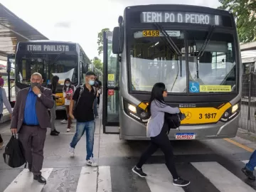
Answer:
[[4, 163], [12, 168], [23, 166], [23, 164], [25, 164], [24, 168], [26, 168], [26, 159], [23, 153], [23, 146], [16, 138], [16, 134], [12, 134], [9, 143], [5, 147], [3, 157]]

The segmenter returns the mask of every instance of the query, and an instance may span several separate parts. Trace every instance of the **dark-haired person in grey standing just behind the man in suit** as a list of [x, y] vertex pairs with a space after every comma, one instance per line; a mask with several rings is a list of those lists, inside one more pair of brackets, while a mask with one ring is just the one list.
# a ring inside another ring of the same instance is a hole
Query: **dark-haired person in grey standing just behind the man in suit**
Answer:
[[56, 119], [56, 100], [58, 100], [58, 98], [60, 98], [58, 95], [56, 95], [56, 90], [57, 90], [57, 85], [58, 85], [58, 80], [59, 77], [57, 75], [54, 75], [51, 83], [48, 84], [48, 88], [52, 91], [53, 95], [53, 100], [54, 100], [54, 105], [53, 108], [50, 109], [50, 135], [56, 136], [58, 134], [60, 134], [60, 132], [58, 132], [55, 128], [55, 119]]

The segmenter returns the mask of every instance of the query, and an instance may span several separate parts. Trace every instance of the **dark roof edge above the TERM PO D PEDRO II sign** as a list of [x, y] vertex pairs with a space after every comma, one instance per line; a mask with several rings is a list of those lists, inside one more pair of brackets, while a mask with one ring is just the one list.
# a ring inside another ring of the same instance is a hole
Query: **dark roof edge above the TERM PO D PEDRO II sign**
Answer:
[[[172, 9], [171, 9], [172, 8]], [[188, 11], [188, 12], [196, 12], [196, 13], [215, 13], [215, 14], [221, 14], [221, 15], [232, 15], [230, 11], [225, 11], [223, 9], [215, 9], [210, 8], [208, 6], [194, 6], [194, 5], [181, 5], [181, 4], [149, 4], [149, 5], [139, 5], [139, 6], [127, 6], [124, 9], [127, 11], [128, 9], [138, 9], [138, 10], [144, 10], [144, 9], [150, 9], [150, 11], [153, 11], [153, 9], [161, 9], [162, 11], [169, 11], [168, 9], [171, 9], [170, 11]], [[155, 11], [155, 10], [154, 10]]]

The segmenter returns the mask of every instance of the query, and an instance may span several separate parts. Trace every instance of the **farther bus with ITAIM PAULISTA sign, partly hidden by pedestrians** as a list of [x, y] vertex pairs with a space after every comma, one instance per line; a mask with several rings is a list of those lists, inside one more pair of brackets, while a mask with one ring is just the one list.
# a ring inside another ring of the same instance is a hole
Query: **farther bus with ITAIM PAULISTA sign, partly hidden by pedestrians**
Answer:
[[[57, 87], [57, 110], [65, 110], [63, 85], [65, 78], [70, 78], [73, 85], [85, 82], [90, 59], [78, 43], [60, 41], [26, 41], [16, 45], [16, 54], [8, 58], [7, 72], [11, 72], [11, 60], [14, 60], [15, 92], [30, 86], [31, 74], [38, 72], [43, 76], [43, 86], [50, 82], [53, 75], [60, 78]], [[10, 87], [9, 87], [10, 89]], [[9, 97], [10, 100], [10, 97]], [[15, 99], [10, 100], [14, 106]]]

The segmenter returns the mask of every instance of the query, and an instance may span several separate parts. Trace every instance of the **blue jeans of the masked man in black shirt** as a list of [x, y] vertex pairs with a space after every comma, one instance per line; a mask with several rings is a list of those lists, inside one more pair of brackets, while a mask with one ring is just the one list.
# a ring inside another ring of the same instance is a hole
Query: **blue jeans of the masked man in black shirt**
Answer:
[[76, 144], [78, 144], [79, 140], [81, 139], [82, 135], [86, 133], [86, 151], [87, 156], [86, 160], [93, 157], [93, 144], [94, 144], [94, 134], [95, 134], [95, 121], [90, 122], [77, 122], [76, 125], [76, 132], [70, 143], [72, 148], [75, 148]]

